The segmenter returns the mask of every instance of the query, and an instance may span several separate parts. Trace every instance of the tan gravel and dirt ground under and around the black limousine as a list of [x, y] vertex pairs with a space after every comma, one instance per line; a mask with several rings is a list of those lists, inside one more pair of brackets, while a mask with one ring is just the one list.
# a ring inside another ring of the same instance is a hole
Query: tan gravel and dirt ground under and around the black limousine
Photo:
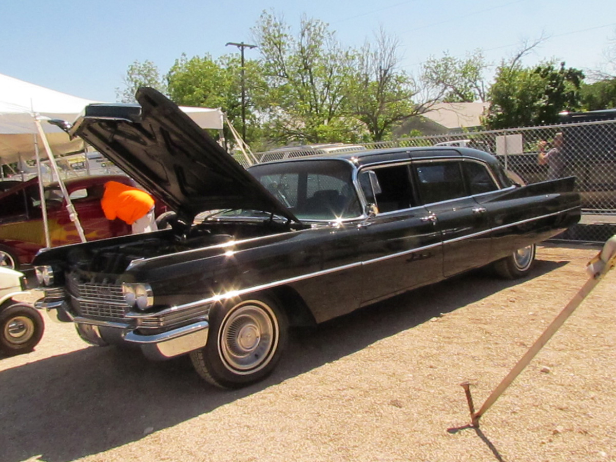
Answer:
[[541, 247], [522, 282], [472, 272], [293, 331], [274, 375], [240, 391], [46, 320], [36, 351], [0, 359], [0, 461], [615, 461], [616, 271], [480, 429], [459, 385], [479, 407], [597, 251]]

